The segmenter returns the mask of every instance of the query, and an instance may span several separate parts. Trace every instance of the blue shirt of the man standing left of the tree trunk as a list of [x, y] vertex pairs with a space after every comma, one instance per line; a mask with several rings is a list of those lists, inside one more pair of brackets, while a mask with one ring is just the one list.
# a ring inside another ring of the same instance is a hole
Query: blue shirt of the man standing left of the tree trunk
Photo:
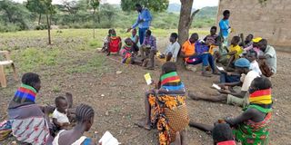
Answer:
[[[140, 20], [144, 20], [143, 23], [138, 24]], [[136, 19], [135, 24], [132, 26], [132, 28], [135, 28], [137, 25], [139, 28], [149, 28], [152, 21], [152, 15], [149, 12], [148, 9], [143, 8], [142, 12], [138, 13], [138, 17]]]

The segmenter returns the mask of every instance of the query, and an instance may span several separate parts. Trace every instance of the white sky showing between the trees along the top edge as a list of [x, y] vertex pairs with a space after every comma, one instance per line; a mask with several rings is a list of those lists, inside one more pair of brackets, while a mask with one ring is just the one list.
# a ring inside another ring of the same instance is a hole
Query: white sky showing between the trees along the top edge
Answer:
[[[24, 2], [25, 0], [14, 0], [16, 2]], [[63, 0], [53, 0], [54, 4], [59, 4]], [[194, 8], [202, 8], [205, 6], [217, 6], [219, 0], [194, 0]], [[120, 4], [120, 0], [101, 0], [102, 3]], [[180, 4], [180, 0], [170, 0], [170, 3]]]

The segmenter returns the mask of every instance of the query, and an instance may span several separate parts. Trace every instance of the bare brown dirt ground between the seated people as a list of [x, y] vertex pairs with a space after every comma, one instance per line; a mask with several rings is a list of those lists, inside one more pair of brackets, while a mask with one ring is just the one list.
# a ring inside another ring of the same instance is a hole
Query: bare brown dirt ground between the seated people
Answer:
[[[145, 73], [151, 73], [154, 80], [158, 79], [160, 69], [146, 71], [139, 66], [124, 65], [112, 59], [119, 60], [117, 56], [105, 58], [104, 67], [89, 73], [66, 73], [67, 67], [78, 67], [87, 63], [94, 56], [104, 55], [95, 50], [74, 55], [75, 61], [61, 66], [41, 67], [37, 72], [42, 76], [42, 90], [38, 94], [37, 103], [54, 104], [54, 99], [65, 92], [74, 95], [75, 105], [86, 103], [95, 109], [95, 122], [89, 137], [95, 138], [93, 132], [98, 132], [100, 138], [105, 131], [110, 131], [122, 144], [129, 145], [155, 145], [157, 134], [155, 130], [145, 131], [134, 125], [135, 121], [145, 116], [144, 95], [149, 86], [144, 80]], [[73, 55], [72, 55], [73, 57]], [[271, 144], [285, 145], [291, 142], [291, 113], [290, 97], [288, 89], [291, 87], [291, 54], [277, 52], [277, 74], [272, 78], [274, 113], [272, 131], [270, 134]], [[121, 74], [116, 74], [121, 71]], [[210, 89], [212, 82], [218, 80], [218, 76], [212, 78], [201, 77], [200, 73], [179, 70], [187, 91], [205, 92], [206, 95], [216, 94]], [[0, 119], [5, 119], [7, 104], [11, 100], [19, 82], [12, 80], [8, 75], [8, 87], [0, 89]], [[54, 85], [59, 88], [56, 92]], [[190, 119], [193, 121], [213, 124], [218, 119], [226, 116], [236, 116], [241, 108], [224, 103], [200, 102], [186, 100]], [[211, 145], [211, 136], [203, 131], [193, 128], [187, 129], [189, 145]], [[10, 140], [0, 144], [10, 144]]]

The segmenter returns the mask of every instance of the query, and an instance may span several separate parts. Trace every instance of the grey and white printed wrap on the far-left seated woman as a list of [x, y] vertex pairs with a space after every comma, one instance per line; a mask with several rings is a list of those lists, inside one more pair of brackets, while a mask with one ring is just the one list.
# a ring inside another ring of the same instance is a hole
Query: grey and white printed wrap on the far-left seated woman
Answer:
[[34, 145], [46, 144], [49, 134], [48, 122], [38, 105], [25, 105], [8, 110], [12, 133], [18, 141]]

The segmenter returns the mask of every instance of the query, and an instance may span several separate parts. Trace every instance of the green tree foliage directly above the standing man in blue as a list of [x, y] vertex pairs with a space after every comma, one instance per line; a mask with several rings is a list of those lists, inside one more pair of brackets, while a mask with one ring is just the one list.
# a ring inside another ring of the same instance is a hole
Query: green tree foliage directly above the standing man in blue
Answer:
[[135, 4], [144, 5], [156, 12], [162, 12], [167, 9], [169, 0], [121, 0], [121, 8], [123, 11], [135, 10]]

